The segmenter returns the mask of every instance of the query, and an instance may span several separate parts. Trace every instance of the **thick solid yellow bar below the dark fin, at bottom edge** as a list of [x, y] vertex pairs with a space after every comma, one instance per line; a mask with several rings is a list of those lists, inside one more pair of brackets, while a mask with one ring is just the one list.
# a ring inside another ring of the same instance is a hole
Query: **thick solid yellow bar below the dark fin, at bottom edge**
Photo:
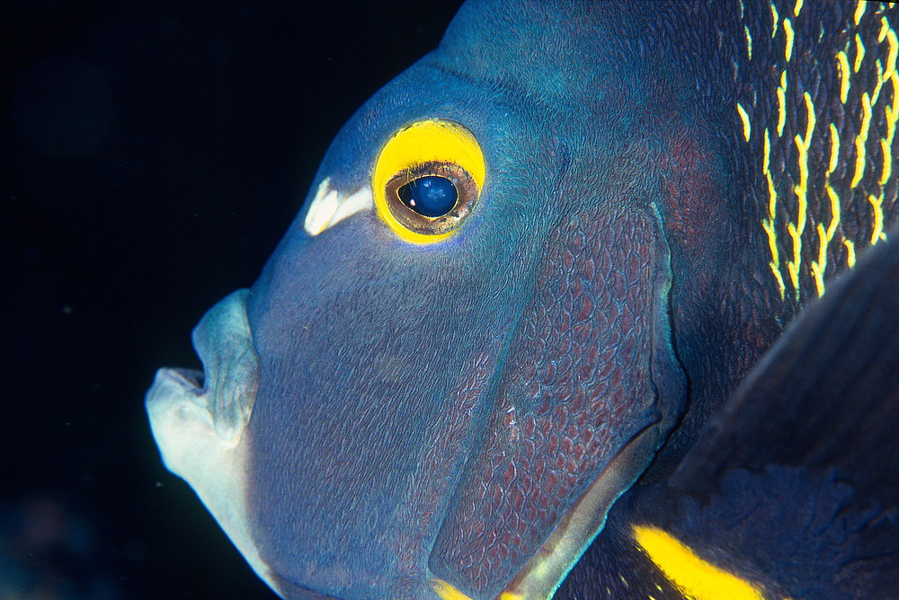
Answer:
[[694, 600], [762, 600], [761, 590], [732, 573], [702, 560], [661, 529], [635, 525], [634, 539], [665, 577]]

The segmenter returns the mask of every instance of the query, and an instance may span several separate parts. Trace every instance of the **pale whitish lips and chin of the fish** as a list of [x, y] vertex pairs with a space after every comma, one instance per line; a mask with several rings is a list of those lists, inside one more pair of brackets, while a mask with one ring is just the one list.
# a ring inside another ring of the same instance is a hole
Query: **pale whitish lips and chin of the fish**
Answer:
[[245, 426], [259, 378], [248, 294], [242, 289], [227, 296], [193, 330], [205, 369], [202, 388], [197, 371], [159, 369], [146, 407], [165, 467], [191, 484], [256, 574], [278, 592], [253, 541], [246, 506]]

